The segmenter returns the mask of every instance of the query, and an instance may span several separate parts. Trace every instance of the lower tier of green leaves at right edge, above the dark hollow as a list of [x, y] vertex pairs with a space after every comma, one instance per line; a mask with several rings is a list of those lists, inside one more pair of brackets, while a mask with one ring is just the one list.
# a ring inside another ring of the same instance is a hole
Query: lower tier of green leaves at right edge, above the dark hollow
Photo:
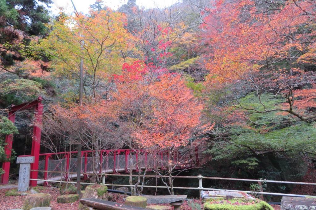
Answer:
[[[215, 159], [252, 155], [253, 151], [280, 151], [287, 156], [307, 153], [314, 156], [316, 151], [316, 127], [300, 123], [266, 133], [254, 129], [236, 127], [229, 131], [231, 142], [215, 143], [210, 150]], [[295, 138], [294, 138], [295, 137]], [[252, 163], [253, 162], [249, 162]]]

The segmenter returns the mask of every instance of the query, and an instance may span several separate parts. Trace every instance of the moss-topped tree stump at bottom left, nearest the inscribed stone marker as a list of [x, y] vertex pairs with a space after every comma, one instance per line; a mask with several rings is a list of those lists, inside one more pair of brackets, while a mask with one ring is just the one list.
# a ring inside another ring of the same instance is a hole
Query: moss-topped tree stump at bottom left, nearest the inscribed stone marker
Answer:
[[49, 207], [51, 195], [45, 193], [29, 194], [25, 197], [24, 210], [30, 210], [35, 207]]

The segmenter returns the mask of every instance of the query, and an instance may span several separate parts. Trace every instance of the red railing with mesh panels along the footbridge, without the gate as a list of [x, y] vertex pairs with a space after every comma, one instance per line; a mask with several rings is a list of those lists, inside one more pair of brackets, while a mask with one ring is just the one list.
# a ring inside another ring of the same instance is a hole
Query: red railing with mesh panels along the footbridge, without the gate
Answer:
[[[71, 152], [58, 152], [58, 153], [44, 153], [39, 157], [39, 169], [37, 177], [31, 177], [32, 179], [44, 179], [44, 180], [60, 180], [76, 177], [77, 168], [77, 151]], [[21, 155], [30, 156], [30, 155]], [[101, 173], [129, 173], [130, 170], [141, 170], [147, 167], [147, 170], [160, 169], [164, 170], [167, 167], [168, 160], [170, 160], [169, 153], [167, 151], [152, 151], [147, 152], [145, 150], [130, 150], [130, 149], [118, 149], [118, 150], [100, 150], [100, 155], [96, 159], [94, 157], [94, 151], [86, 150], [81, 152], [82, 165], [81, 172], [85, 179], [88, 178], [88, 174], [93, 171], [93, 165], [95, 161], [98, 161], [98, 172]], [[178, 161], [183, 158], [180, 155], [173, 155], [173, 160]], [[191, 161], [191, 159], [194, 161]], [[198, 162], [198, 154], [196, 150], [195, 157], [185, 157], [187, 160], [186, 166], [180, 166], [187, 168], [190, 165], [195, 165]], [[195, 160], [197, 159], [197, 160]], [[183, 161], [183, 159], [182, 159]], [[141, 167], [141, 168], [139, 168]], [[44, 182], [44, 184], [47, 184]]]

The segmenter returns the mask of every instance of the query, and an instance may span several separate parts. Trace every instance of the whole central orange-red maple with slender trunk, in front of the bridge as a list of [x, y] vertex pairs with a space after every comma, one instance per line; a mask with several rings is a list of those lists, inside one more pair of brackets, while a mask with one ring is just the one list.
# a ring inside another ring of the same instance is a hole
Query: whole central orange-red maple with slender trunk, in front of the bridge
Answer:
[[[155, 66], [141, 61], [124, 64], [122, 75], [115, 78], [117, 92], [113, 94], [113, 101], [129, 147], [168, 152], [168, 159], [162, 164], [170, 176], [169, 193], [174, 194], [171, 174], [176, 167], [192, 163], [190, 155], [195, 151], [192, 138], [201, 124], [203, 105], [194, 98], [179, 74], [157, 71]], [[135, 185], [139, 183], [138, 179]]]

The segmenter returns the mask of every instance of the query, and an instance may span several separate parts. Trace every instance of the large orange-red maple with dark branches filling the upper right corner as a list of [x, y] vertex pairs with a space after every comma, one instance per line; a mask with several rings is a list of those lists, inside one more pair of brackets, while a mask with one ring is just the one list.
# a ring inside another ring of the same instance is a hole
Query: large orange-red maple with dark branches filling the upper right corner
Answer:
[[[259, 99], [262, 93], [272, 92], [285, 99], [283, 108], [267, 109], [260, 101], [263, 111], [252, 111], [316, 119], [308, 113], [315, 107], [316, 76], [308, 66], [315, 64], [313, 1], [218, 0], [204, 11], [203, 38], [211, 46], [204, 64], [210, 71], [206, 85], [211, 90], [255, 91]], [[301, 91], [309, 94], [301, 97]], [[302, 106], [305, 102], [308, 107]]]

